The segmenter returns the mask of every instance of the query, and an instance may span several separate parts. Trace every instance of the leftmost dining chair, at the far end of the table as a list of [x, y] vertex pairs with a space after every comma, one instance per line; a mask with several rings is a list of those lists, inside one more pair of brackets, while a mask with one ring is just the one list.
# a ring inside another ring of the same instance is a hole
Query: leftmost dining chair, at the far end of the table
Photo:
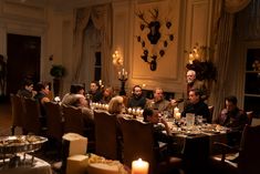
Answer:
[[14, 135], [15, 127], [24, 127], [23, 119], [24, 119], [24, 109], [22, 99], [19, 95], [13, 93], [10, 94], [11, 98], [11, 109], [12, 109], [12, 126], [11, 133]]

